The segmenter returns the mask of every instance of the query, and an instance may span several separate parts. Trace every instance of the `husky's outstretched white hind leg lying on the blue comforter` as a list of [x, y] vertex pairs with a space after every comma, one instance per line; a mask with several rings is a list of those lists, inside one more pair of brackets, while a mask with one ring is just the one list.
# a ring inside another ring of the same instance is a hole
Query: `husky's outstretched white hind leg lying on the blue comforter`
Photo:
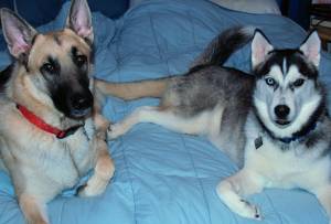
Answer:
[[184, 117], [177, 115], [169, 108], [143, 106], [137, 108], [120, 122], [111, 125], [108, 130], [108, 137], [115, 139], [139, 122], [152, 122], [170, 130], [189, 135], [206, 134], [210, 121], [209, 115], [207, 113], [201, 113], [193, 117]]

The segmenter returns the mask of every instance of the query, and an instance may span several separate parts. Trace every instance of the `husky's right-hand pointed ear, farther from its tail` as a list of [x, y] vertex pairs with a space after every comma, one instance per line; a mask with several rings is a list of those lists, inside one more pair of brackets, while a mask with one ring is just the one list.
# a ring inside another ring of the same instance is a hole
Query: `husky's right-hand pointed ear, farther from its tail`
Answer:
[[300, 51], [314, 64], [314, 66], [319, 66], [321, 57], [321, 40], [316, 30], [312, 31], [303, 41], [300, 46]]

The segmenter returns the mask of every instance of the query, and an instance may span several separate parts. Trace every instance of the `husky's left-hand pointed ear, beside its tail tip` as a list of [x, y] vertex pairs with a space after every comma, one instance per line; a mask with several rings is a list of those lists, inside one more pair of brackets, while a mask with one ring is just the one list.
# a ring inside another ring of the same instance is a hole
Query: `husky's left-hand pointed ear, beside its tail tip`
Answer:
[[252, 41], [252, 66], [256, 67], [265, 61], [267, 54], [274, 50], [268, 39], [261, 31], [256, 30]]

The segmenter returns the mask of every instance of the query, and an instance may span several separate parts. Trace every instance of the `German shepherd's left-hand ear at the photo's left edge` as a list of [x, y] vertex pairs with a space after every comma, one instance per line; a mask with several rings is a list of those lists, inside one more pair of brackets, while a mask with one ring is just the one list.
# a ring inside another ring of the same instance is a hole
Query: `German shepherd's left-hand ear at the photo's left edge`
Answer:
[[17, 58], [26, 56], [38, 32], [9, 9], [1, 9], [1, 24], [9, 52]]

